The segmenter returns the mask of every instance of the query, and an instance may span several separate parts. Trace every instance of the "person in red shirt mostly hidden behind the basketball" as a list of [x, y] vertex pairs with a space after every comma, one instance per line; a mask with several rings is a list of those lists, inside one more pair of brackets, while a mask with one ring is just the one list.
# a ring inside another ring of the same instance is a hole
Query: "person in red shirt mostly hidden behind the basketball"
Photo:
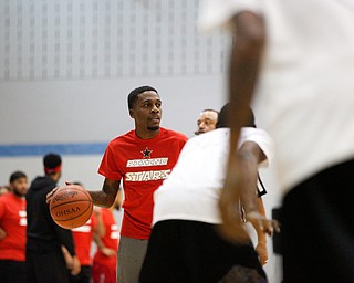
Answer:
[[[73, 182], [73, 185], [79, 185], [83, 187], [81, 182]], [[81, 227], [72, 229], [74, 244], [75, 244], [75, 253], [81, 264], [81, 271], [79, 274], [73, 275], [72, 271], [69, 272], [69, 281], [70, 283], [90, 283], [92, 282], [92, 242], [94, 240], [94, 233], [97, 229], [97, 220], [95, 213], [91, 214], [88, 221]], [[73, 258], [67, 252], [65, 247], [62, 247], [63, 253], [65, 255], [66, 265], [72, 268]]]

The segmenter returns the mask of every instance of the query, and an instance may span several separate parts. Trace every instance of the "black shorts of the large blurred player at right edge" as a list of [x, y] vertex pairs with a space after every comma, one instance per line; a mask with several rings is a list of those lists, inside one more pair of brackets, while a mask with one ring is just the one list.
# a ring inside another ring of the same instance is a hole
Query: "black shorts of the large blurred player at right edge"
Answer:
[[280, 213], [284, 283], [354, 282], [354, 160], [292, 189]]

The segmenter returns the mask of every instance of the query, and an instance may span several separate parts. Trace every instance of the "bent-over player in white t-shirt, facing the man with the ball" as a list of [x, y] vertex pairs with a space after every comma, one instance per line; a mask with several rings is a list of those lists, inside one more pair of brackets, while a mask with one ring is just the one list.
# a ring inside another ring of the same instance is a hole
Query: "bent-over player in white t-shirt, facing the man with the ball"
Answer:
[[[232, 244], [217, 232], [221, 224], [218, 199], [229, 153], [229, 106], [222, 107], [217, 129], [187, 142], [170, 176], [154, 193], [154, 228], [142, 283], [215, 283], [228, 277], [229, 271], [233, 281], [227, 282], [266, 282], [250, 238], [243, 245]], [[237, 154], [249, 170], [249, 193], [256, 196], [258, 167], [269, 165], [273, 144], [253, 124], [250, 120], [242, 127]], [[241, 222], [241, 218], [237, 221]]]

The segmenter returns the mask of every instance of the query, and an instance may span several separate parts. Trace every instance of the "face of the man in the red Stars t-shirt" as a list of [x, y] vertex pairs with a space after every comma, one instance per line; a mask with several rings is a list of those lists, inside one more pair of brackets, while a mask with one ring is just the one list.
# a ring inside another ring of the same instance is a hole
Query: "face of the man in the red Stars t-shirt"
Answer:
[[133, 108], [129, 109], [129, 114], [135, 120], [137, 130], [158, 130], [163, 114], [162, 101], [158, 94], [153, 91], [140, 93]]

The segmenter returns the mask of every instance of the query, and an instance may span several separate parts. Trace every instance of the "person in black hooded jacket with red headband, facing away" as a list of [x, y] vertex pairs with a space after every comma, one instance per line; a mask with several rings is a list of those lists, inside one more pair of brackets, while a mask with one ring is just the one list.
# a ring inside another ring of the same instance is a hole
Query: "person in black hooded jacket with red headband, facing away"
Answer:
[[[45, 196], [61, 177], [61, 157], [48, 154], [43, 158], [45, 176], [37, 177], [27, 195], [27, 276], [28, 283], [66, 283], [66, 265], [72, 273], [80, 272], [71, 230], [59, 227], [52, 219]], [[66, 263], [62, 253], [66, 248], [73, 258]]]

